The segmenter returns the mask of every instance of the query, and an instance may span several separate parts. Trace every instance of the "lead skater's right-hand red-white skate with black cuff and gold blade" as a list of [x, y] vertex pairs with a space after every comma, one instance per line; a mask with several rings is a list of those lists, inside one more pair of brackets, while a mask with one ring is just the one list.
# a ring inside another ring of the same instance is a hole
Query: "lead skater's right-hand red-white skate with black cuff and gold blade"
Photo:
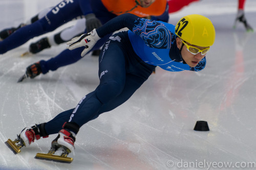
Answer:
[[[48, 154], [38, 153], [35, 158], [71, 163], [73, 158], [67, 156], [75, 150], [74, 143], [78, 130], [79, 126], [76, 123], [65, 123], [63, 129], [59, 131], [58, 136], [52, 141]], [[57, 150], [62, 150], [60, 156], [54, 155]]]

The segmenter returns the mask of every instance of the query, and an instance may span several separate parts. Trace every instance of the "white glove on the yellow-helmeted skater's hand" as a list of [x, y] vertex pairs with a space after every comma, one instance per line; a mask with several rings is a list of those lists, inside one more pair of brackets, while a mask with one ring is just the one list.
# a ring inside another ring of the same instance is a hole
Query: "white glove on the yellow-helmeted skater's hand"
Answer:
[[98, 36], [96, 29], [94, 29], [90, 33], [82, 34], [81, 36], [68, 41], [67, 45], [69, 46], [67, 48], [69, 48], [69, 50], [74, 50], [75, 48], [85, 46], [86, 48], [81, 53], [81, 57], [83, 57], [92, 49], [99, 39], [100, 37]]

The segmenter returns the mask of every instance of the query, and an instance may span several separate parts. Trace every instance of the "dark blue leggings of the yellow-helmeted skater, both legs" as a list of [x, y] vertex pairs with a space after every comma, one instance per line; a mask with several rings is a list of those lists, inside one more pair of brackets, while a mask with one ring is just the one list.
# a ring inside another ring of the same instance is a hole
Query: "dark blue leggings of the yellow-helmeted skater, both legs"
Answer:
[[58, 133], [65, 122], [81, 127], [101, 113], [111, 111], [127, 101], [152, 74], [155, 66], [144, 63], [133, 51], [127, 32], [108, 40], [99, 56], [98, 87], [84, 96], [76, 108], [64, 111], [46, 123], [46, 132]]

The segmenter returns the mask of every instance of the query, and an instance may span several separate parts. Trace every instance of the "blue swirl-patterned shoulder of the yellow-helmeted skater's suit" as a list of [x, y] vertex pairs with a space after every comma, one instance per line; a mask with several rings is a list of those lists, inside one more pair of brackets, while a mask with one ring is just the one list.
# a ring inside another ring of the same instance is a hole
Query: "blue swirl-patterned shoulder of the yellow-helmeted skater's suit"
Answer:
[[145, 44], [152, 48], [170, 48], [172, 36], [169, 30], [160, 22], [150, 19], [137, 19], [133, 32], [140, 36]]

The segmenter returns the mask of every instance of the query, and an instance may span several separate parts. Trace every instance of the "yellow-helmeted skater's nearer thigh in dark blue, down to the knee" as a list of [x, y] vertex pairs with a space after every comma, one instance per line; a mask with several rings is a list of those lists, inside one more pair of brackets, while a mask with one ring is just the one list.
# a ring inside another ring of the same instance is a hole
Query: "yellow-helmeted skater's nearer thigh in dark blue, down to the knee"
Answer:
[[96, 96], [101, 103], [108, 103], [119, 95], [125, 83], [125, 57], [119, 45], [108, 40], [99, 56], [99, 86]]

